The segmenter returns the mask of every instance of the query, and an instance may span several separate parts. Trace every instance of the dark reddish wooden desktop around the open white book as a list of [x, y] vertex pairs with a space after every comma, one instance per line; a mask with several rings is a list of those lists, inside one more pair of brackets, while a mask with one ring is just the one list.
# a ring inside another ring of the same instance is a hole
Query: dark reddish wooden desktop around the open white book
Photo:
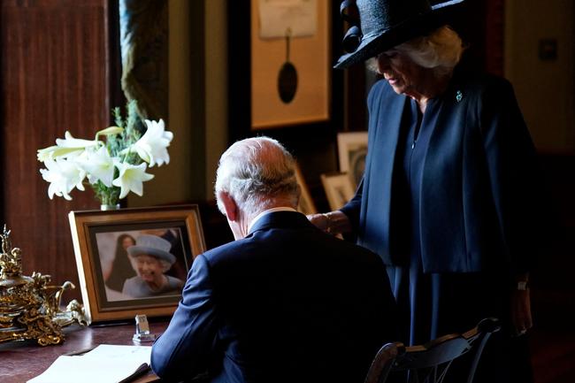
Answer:
[[[149, 322], [150, 331], [156, 335], [163, 333], [167, 326], [167, 321]], [[66, 353], [91, 349], [100, 344], [140, 344], [132, 341], [135, 325], [70, 326], [66, 327], [64, 332], [65, 341], [58, 346], [42, 347], [33, 341], [0, 344], [0, 382], [25, 383], [28, 379], [40, 375], [58, 356]], [[150, 375], [153, 376], [151, 372]]]

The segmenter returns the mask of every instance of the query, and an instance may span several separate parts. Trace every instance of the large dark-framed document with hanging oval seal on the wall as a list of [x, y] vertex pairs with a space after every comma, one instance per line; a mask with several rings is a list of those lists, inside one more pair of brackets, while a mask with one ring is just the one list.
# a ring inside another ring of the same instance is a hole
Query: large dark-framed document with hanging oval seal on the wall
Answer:
[[[296, 16], [284, 16], [282, 6]], [[333, 67], [341, 56], [339, 7], [328, 0], [249, 0], [227, 2], [226, 11], [228, 143], [264, 134], [297, 156], [333, 150], [344, 116], [345, 72]]]

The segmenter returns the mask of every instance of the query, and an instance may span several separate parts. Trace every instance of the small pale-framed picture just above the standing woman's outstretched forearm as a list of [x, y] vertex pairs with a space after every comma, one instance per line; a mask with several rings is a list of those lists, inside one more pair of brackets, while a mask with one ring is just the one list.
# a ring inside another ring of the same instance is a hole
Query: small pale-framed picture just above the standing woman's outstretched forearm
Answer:
[[367, 156], [367, 132], [337, 134], [340, 172], [347, 172], [354, 188], [364, 176]]

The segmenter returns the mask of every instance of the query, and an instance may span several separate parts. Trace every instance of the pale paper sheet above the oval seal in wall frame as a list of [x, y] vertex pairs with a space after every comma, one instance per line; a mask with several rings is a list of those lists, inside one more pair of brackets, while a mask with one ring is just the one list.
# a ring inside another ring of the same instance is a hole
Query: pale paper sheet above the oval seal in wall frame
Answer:
[[318, 3], [316, 0], [259, 0], [259, 36], [262, 39], [316, 34]]

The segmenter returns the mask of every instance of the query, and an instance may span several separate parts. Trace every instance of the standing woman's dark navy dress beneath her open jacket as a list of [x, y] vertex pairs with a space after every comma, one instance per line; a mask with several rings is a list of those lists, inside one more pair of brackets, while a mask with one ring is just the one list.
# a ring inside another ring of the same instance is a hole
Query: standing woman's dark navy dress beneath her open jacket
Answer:
[[[510, 276], [506, 268], [502, 267], [501, 271], [423, 272], [419, 240], [421, 180], [426, 150], [445, 100], [441, 96], [429, 100], [426, 113], [422, 115], [415, 101], [403, 98], [405, 104], [395, 153], [390, 217], [390, 220], [395, 220], [395, 239], [399, 238], [403, 243], [399, 251], [403, 253], [403, 260], [387, 265], [400, 310], [398, 322], [403, 333], [400, 341], [422, 344], [446, 333], [463, 333], [482, 318], [500, 318], [506, 328], [492, 336], [487, 344], [475, 381], [533, 381], [525, 339], [510, 339]], [[372, 166], [378, 160], [372, 158]], [[443, 197], [449, 198], [450, 195]], [[342, 211], [354, 217], [349, 206]], [[441, 240], [449, 241], [449, 233]], [[457, 370], [457, 366], [452, 369]], [[452, 371], [449, 381], [466, 381], [466, 373]]]

